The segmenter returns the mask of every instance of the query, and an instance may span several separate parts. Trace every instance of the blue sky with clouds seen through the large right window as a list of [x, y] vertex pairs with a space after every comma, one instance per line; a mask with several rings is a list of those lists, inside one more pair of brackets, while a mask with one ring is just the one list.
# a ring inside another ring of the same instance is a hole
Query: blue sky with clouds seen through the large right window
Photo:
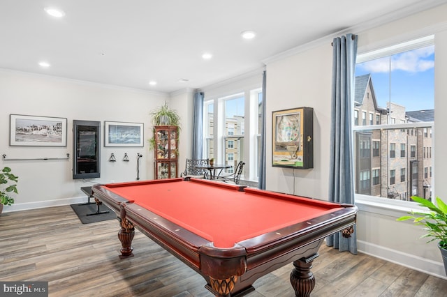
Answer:
[[356, 76], [367, 73], [379, 107], [390, 100], [406, 112], [434, 109], [434, 45], [357, 64]]

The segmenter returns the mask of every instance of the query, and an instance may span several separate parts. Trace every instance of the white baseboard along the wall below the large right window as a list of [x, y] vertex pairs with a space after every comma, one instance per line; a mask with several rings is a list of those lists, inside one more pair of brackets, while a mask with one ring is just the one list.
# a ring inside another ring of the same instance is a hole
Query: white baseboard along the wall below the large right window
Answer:
[[365, 241], [357, 241], [357, 249], [359, 252], [369, 254], [372, 257], [383, 259], [414, 269], [415, 271], [420, 271], [422, 273], [427, 273], [428, 275], [433, 275], [447, 280], [443, 262], [425, 259], [397, 250], [391, 250], [390, 248], [385, 248], [380, 245], [374, 245]]

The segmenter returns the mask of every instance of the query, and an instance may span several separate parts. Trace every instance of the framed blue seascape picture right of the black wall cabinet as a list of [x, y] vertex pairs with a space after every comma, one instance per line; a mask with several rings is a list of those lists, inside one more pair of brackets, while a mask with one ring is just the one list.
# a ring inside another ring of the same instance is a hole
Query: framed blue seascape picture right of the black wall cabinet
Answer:
[[104, 122], [104, 146], [143, 146], [143, 123]]

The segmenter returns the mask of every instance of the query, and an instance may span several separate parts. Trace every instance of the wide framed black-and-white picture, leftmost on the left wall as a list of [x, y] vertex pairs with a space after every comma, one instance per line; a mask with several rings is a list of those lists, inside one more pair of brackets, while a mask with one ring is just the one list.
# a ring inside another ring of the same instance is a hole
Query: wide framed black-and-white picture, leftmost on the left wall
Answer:
[[67, 119], [10, 114], [10, 146], [67, 146]]

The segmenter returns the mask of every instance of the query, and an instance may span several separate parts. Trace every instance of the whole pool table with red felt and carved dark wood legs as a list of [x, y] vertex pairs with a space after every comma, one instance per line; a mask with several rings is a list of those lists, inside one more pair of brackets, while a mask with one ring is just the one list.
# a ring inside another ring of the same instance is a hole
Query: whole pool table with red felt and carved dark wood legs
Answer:
[[216, 296], [242, 296], [293, 262], [296, 296], [314, 289], [312, 261], [326, 236], [349, 236], [357, 208], [197, 178], [94, 185], [120, 224], [121, 258], [137, 228], [202, 275]]

